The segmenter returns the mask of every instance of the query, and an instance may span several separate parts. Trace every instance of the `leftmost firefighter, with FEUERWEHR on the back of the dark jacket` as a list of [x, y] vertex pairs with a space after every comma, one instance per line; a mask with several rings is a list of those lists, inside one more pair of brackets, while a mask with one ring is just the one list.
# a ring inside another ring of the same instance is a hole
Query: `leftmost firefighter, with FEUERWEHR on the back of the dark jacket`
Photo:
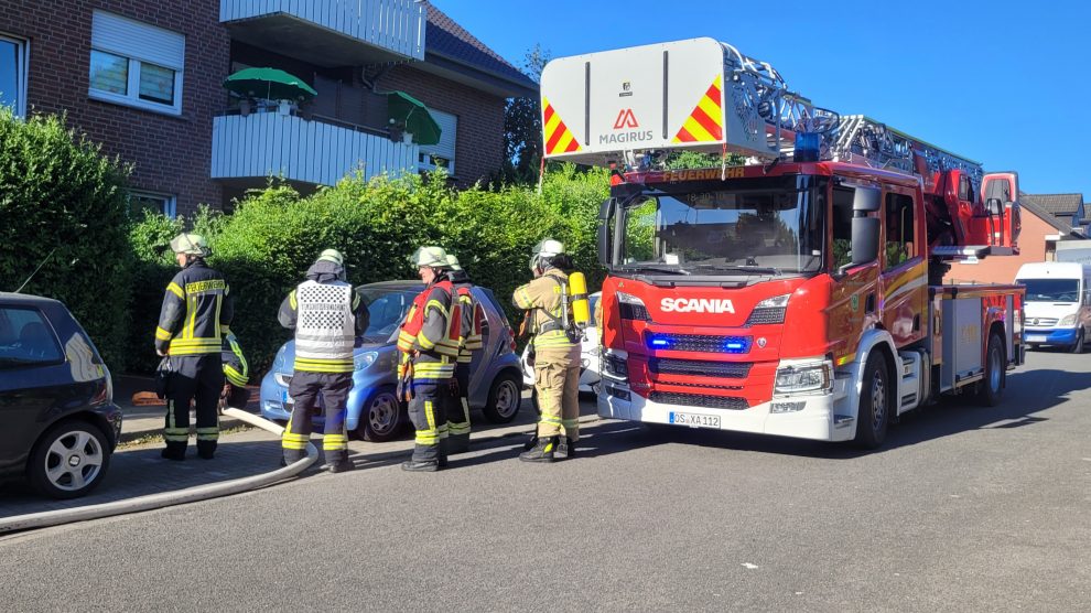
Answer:
[[205, 264], [212, 251], [204, 237], [180, 234], [171, 250], [182, 270], [166, 286], [155, 330], [155, 353], [169, 362], [163, 458], [185, 460], [190, 442], [190, 402], [197, 413], [197, 455], [212, 460], [219, 440], [216, 406], [224, 387], [222, 337], [234, 310], [223, 275]]

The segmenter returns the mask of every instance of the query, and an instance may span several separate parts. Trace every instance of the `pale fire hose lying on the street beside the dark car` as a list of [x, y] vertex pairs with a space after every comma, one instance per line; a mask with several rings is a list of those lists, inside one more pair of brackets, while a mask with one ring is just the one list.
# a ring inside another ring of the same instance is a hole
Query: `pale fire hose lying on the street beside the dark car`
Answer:
[[[224, 409], [224, 415], [234, 417], [240, 421], [261, 428], [262, 430], [268, 430], [277, 435], [283, 434], [284, 432], [284, 429], [281, 426], [239, 409], [226, 408]], [[209, 498], [218, 498], [220, 496], [241, 494], [259, 487], [267, 487], [277, 482], [284, 481], [285, 478], [294, 477], [310, 467], [311, 464], [314, 464], [317, 459], [317, 448], [315, 448], [312, 443], [307, 443], [305, 458], [299, 462], [294, 462], [272, 472], [213, 483], [209, 485], [197, 485], [194, 487], [180, 490], [177, 492], [163, 492], [161, 494], [151, 494], [148, 496], [140, 496], [137, 498], [128, 498], [125, 501], [116, 501], [99, 505], [47, 510], [43, 513], [30, 513], [26, 515], [15, 515], [13, 517], [0, 518], [0, 534], [14, 530], [26, 530], [31, 528], [45, 528], [48, 526], [69, 524], [72, 521], [101, 519], [102, 517], [112, 517], [115, 515], [140, 513], [168, 506], [207, 501]]]

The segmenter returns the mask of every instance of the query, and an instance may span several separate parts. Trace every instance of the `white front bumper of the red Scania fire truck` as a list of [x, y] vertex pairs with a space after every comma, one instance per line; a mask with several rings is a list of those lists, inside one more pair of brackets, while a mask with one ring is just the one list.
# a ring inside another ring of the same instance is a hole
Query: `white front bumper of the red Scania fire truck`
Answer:
[[[721, 430], [817, 441], [847, 441], [855, 435], [854, 417], [839, 415], [835, 410], [835, 406], [844, 405], [838, 399], [846, 397], [846, 390], [843, 389], [845, 384], [845, 380], [839, 379], [838, 389], [833, 394], [776, 398], [747, 409], [731, 410], [659, 404], [633, 392], [624, 384], [603, 379], [603, 389], [598, 395], [598, 416], [671, 424], [672, 412], [714, 415], [720, 417]], [[628, 400], [612, 394], [611, 388], [622, 390], [622, 396], [627, 391]], [[782, 408], [792, 405], [792, 408], [797, 408], [800, 404], [802, 408], [799, 410], [773, 412], [775, 406]], [[679, 426], [679, 428], [688, 428], [688, 426]]]

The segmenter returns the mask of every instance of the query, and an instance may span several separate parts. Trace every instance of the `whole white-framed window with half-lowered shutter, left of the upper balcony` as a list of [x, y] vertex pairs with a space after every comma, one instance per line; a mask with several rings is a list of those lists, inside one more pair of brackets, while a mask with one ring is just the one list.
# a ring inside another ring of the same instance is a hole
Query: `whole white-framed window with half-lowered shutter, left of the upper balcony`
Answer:
[[95, 11], [90, 89], [97, 100], [182, 115], [185, 36]]

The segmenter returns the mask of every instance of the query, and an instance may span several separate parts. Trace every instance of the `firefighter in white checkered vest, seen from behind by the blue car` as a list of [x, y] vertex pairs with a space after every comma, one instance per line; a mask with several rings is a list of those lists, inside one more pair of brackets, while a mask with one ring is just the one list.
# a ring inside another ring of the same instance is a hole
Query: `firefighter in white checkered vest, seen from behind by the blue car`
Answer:
[[302, 460], [311, 438], [311, 412], [318, 395], [325, 407], [322, 450], [326, 470], [353, 469], [345, 419], [353, 388], [353, 348], [368, 324], [367, 303], [345, 280], [345, 256], [322, 251], [280, 305], [281, 325], [295, 331], [295, 365], [288, 394], [295, 402], [281, 447], [284, 464]]

